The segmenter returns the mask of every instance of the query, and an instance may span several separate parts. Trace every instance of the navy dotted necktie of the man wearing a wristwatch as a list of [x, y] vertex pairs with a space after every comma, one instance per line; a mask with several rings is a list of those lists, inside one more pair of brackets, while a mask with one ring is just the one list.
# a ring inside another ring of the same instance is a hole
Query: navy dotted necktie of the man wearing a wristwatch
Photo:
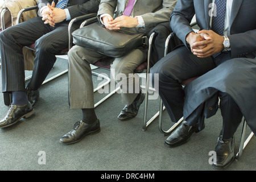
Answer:
[[[215, 0], [214, 3], [216, 5], [217, 14], [212, 17], [212, 31], [222, 36], [224, 32], [226, 0]], [[213, 57], [220, 55], [220, 53], [221, 52], [214, 54]]]

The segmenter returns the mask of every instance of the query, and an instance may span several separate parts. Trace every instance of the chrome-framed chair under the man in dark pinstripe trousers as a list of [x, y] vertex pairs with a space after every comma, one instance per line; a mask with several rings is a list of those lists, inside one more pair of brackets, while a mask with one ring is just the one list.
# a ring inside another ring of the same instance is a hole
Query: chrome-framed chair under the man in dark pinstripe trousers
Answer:
[[[17, 24], [20, 23], [20, 19], [22, 18], [22, 13], [26, 12], [26, 11], [31, 11], [31, 10], [36, 10], [38, 9], [38, 6], [31, 6], [31, 7], [27, 7], [27, 8], [24, 8], [22, 10], [19, 11], [18, 13], [18, 16], [17, 16]], [[7, 10], [3, 10], [2, 13], [1, 13], [1, 21], [2, 21], [2, 30], [5, 30], [5, 23], [4, 23], [4, 15], [6, 13]], [[93, 16], [96, 16], [96, 13], [92, 13], [92, 14], [87, 14], [87, 15], [82, 15], [82, 16], [79, 16], [79, 17], [76, 17], [76, 18], [73, 18], [70, 22], [69, 22], [69, 25], [68, 25], [68, 36], [69, 36], [69, 46], [68, 48], [65, 48], [63, 49], [63, 51], [60, 51], [57, 55], [65, 55], [67, 54], [67, 52], [69, 51], [69, 49], [72, 47], [72, 34], [71, 34], [71, 28], [73, 26], [73, 24], [75, 22], [78, 22], [79, 20], [81, 19], [89, 19], [89, 18], [92, 18]], [[35, 51], [35, 44], [31, 44], [30, 46], [27, 46], [27, 48], [31, 49], [32, 51]], [[43, 82], [43, 84], [46, 84], [47, 82], [61, 76], [61, 75], [64, 75], [65, 73], [68, 72], [68, 69], [66, 69], [65, 71], [63, 72], [60, 72], [58, 73], [57, 75], [55, 76], [52, 76], [51, 78], [48, 78], [47, 80], [45, 80]], [[28, 81], [31, 79], [31, 76], [28, 76], [25, 78], [25, 81]], [[5, 102], [5, 105], [9, 106], [11, 104], [11, 94], [9, 93], [4, 93], [3, 94], [3, 97], [4, 97], [4, 102]]]

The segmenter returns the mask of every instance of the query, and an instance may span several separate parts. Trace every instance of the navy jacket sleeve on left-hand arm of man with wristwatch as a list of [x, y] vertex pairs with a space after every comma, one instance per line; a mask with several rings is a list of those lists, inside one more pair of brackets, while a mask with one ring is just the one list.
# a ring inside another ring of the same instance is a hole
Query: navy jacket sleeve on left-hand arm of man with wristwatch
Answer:
[[177, 37], [186, 45], [186, 36], [192, 32], [190, 22], [195, 15], [193, 0], [177, 1], [170, 17], [170, 27]]

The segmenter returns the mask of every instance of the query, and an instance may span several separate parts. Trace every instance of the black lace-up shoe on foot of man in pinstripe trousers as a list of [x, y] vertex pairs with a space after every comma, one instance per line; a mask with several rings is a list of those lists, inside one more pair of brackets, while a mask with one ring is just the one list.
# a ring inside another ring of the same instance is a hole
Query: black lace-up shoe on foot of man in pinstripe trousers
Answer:
[[28, 118], [34, 114], [33, 106], [30, 102], [23, 106], [17, 106], [11, 104], [5, 118], [0, 121], [0, 128], [8, 127], [14, 125], [21, 118]]

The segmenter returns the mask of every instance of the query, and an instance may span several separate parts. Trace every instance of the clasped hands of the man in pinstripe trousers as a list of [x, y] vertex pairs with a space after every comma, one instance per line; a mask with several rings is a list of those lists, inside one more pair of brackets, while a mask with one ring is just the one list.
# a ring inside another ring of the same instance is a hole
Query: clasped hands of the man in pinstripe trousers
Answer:
[[62, 22], [66, 19], [65, 10], [55, 8], [55, 2], [52, 2], [51, 5], [47, 4], [47, 8], [42, 11], [42, 20], [44, 20], [44, 24], [49, 24], [54, 27], [55, 23]]

